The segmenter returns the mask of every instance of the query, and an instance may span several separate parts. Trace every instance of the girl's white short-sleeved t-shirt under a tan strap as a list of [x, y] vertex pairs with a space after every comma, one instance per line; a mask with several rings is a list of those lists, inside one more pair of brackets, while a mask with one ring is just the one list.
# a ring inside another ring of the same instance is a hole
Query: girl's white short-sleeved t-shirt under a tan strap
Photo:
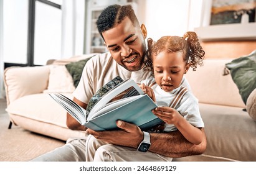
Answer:
[[[151, 85], [153, 82], [154, 78], [141, 81], [141, 83], [144, 83], [146, 86]], [[154, 90], [154, 95], [156, 96], [156, 104], [158, 106], [170, 106], [171, 101], [173, 101], [181, 87], [182, 85], [171, 92], [166, 92], [161, 89], [157, 83], [155, 83], [153, 86], [151, 86], [151, 88]], [[204, 122], [202, 121], [201, 114], [199, 112], [198, 99], [191, 93], [190, 90], [184, 94], [183, 98], [174, 109], [176, 109], [181, 116], [192, 124], [192, 126], [204, 127]], [[174, 124], [164, 124], [164, 131], [176, 131], [176, 126], [174, 126]]]

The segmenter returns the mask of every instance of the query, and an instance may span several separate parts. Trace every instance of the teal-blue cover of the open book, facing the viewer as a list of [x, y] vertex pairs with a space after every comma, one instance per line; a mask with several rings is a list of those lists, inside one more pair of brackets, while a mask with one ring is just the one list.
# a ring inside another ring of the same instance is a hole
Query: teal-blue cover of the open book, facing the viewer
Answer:
[[127, 103], [121, 103], [121, 106], [93, 117], [85, 122], [84, 126], [94, 131], [109, 131], [117, 129], [116, 121], [122, 120], [136, 124], [141, 130], [148, 130], [163, 122], [151, 112], [157, 106], [148, 95], [143, 94], [131, 98], [133, 99], [128, 99]]

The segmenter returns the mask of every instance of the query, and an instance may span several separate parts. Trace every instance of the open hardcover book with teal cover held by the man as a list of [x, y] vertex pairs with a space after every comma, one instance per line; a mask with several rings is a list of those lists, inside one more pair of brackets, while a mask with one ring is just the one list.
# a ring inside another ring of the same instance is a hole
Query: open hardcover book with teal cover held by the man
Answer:
[[[118, 79], [117, 83], [116, 79]], [[115, 85], [112, 85], [107, 93], [93, 96], [94, 99], [89, 101], [87, 110], [62, 94], [50, 93], [50, 96], [82, 126], [94, 131], [116, 130], [117, 120], [136, 124], [141, 130], [150, 129], [163, 122], [151, 112], [157, 107], [156, 104], [143, 93], [135, 81], [123, 81], [120, 77], [116, 77], [108, 84], [112, 84], [113, 81]], [[107, 86], [110, 86], [108, 84]], [[102, 92], [102, 89], [99, 91]]]

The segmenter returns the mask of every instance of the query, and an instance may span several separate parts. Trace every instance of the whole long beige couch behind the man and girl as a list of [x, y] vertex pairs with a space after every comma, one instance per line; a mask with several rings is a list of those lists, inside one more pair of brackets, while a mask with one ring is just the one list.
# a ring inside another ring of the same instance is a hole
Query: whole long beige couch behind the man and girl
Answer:
[[[231, 76], [222, 76], [227, 62], [230, 60], [205, 60], [204, 66], [187, 73], [192, 91], [199, 99], [207, 149], [202, 155], [175, 161], [256, 161], [256, 122], [242, 111], [245, 104]], [[6, 111], [14, 124], [61, 140], [85, 135], [67, 129], [65, 110], [47, 94], [62, 92], [72, 98], [72, 78], [62, 63], [5, 70]]]

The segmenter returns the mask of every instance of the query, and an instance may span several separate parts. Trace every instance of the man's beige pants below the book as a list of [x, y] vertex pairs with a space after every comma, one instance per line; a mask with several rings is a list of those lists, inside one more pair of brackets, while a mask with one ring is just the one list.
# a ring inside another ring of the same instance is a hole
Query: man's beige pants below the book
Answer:
[[173, 158], [164, 157], [151, 152], [138, 152], [130, 147], [106, 144], [88, 135], [85, 139], [69, 139], [67, 143], [55, 150], [32, 159], [34, 162], [146, 162], [171, 161]]

